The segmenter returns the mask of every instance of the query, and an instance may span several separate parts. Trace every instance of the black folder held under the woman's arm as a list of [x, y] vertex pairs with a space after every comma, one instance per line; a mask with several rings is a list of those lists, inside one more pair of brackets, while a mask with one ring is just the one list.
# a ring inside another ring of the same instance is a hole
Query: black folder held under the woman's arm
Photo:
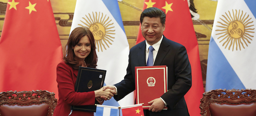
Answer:
[[[76, 92], [89, 92], [95, 91], [103, 87], [106, 76], [106, 70], [96, 68], [79, 67], [76, 79], [75, 91]], [[95, 104], [99, 104], [95, 100]], [[86, 106], [71, 106], [71, 110], [96, 112], [95, 105]]]

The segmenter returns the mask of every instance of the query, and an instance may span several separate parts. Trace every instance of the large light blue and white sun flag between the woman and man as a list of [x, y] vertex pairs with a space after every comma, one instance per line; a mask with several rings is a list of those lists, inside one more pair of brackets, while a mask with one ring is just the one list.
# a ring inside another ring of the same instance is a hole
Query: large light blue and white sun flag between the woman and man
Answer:
[[[114, 85], [126, 75], [129, 44], [117, 0], [76, 0], [76, 8], [70, 33], [76, 27], [89, 27], [94, 34], [97, 67], [106, 70], [106, 85]], [[134, 104], [134, 93], [116, 102], [113, 98], [104, 101], [108, 106]]]

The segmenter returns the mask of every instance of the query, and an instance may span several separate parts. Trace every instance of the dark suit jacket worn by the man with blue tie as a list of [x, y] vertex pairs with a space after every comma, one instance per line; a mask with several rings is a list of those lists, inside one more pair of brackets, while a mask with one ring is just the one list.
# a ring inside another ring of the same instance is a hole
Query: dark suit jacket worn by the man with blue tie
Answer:
[[[135, 90], [135, 66], [146, 66], [145, 52], [145, 41], [130, 49], [127, 74], [124, 80], [115, 84], [118, 94], [114, 96], [114, 99], [117, 101]], [[163, 37], [154, 62], [154, 66], [158, 65], [168, 67], [168, 92], [161, 96], [168, 104], [168, 110], [158, 113], [150, 111], [149, 116], [188, 116], [184, 95], [192, 85], [192, 77], [186, 48]]]

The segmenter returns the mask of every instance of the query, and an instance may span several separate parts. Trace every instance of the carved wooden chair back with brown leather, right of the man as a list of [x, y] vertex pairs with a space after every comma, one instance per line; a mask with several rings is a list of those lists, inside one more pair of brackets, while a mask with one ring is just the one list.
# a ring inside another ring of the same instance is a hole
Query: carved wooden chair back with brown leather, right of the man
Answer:
[[256, 90], [216, 89], [200, 102], [201, 116], [256, 116]]

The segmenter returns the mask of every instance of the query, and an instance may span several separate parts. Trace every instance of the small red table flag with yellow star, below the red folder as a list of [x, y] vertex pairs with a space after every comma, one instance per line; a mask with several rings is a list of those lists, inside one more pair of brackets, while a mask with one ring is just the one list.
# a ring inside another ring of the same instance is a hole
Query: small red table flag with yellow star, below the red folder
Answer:
[[144, 116], [142, 104], [122, 107], [123, 116]]

